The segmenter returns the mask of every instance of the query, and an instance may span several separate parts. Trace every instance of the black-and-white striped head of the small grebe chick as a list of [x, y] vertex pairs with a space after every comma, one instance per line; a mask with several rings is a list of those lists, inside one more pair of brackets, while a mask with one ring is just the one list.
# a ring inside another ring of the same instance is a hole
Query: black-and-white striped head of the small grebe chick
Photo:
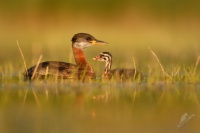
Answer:
[[102, 52], [99, 55], [97, 55], [96, 57], [94, 57], [93, 60], [111, 62], [112, 61], [112, 55], [109, 52]]

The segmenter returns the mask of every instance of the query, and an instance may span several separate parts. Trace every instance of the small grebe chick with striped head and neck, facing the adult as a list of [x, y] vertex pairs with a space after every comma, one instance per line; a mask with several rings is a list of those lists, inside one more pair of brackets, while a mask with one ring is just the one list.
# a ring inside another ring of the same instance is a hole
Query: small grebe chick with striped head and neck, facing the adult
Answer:
[[138, 77], [140, 74], [137, 71], [135, 71], [135, 69], [116, 68], [116, 69], [111, 70], [112, 54], [109, 52], [102, 52], [96, 57], [94, 57], [93, 60], [103, 61], [106, 63], [102, 78], [106, 78], [106, 79], [114, 78], [118, 80], [131, 79], [132, 80], [134, 77]]

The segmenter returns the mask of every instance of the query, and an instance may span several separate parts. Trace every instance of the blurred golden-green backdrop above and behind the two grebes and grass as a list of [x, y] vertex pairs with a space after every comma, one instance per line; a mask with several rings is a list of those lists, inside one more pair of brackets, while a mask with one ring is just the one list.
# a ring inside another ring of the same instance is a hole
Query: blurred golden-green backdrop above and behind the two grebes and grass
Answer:
[[145, 71], [156, 63], [148, 47], [164, 66], [191, 66], [200, 54], [200, 1], [1, 0], [0, 67], [24, 69], [16, 40], [28, 67], [41, 54], [42, 61], [74, 62], [78, 32], [109, 42], [85, 50], [96, 71], [104, 64], [91, 59], [102, 51], [113, 54], [113, 68], [133, 67], [134, 58]]

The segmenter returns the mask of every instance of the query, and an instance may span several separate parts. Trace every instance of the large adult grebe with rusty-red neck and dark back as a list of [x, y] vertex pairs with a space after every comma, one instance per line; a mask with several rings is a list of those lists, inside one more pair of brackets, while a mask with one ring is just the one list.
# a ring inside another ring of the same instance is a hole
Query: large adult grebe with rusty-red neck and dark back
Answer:
[[42, 62], [38, 65], [34, 77], [32, 78], [36, 65], [29, 68], [27, 70], [28, 73], [24, 73], [25, 79], [43, 79], [48, 76], [55, 76], [63, 79], [95, 78], [95, 72], [85, 58], [84, 49], [90, 46], [103, 45], [107, 43], [97, 40], [92, 35], [87, 33], [77, 33], [73, 36], [71, 41], [76, 64], [59, 61]]

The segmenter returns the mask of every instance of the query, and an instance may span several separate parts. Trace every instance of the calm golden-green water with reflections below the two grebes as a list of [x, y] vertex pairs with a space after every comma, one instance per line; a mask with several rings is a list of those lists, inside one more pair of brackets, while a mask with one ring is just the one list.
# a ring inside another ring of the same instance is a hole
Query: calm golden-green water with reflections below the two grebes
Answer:
[[[194, 85], [188, 85], [188, 91], [179, 84], [160, 83], [22, 79], [1, 83], [0, 127], [8, 133], [177, 131], [183, 112], [198, 116], [200, 111], [200, 90]], [[194, 118], [183, 128], [195, 132], [198, 123]]]

